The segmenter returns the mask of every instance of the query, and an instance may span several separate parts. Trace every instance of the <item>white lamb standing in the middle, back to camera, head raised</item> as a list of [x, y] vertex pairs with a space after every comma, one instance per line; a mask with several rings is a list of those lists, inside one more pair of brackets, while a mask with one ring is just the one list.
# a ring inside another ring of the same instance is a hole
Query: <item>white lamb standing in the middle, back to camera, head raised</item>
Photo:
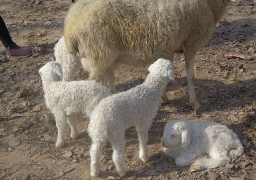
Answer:
[[129, 127], [135, 127], [139, 136], [139, 158], [143, 162], [148, 160], [148, 130], [157, 114], [164, 87], [169, 79], [174, 80], [172, 61], [158, 59], [148, 71], [143, 84], [102, 99], [91, 113], [88, 126], [92, 138], [91, 176], [99, 175], [99, 162], [106, 141], [112, 145], [117, 173], [125, 176], [125, 129]]

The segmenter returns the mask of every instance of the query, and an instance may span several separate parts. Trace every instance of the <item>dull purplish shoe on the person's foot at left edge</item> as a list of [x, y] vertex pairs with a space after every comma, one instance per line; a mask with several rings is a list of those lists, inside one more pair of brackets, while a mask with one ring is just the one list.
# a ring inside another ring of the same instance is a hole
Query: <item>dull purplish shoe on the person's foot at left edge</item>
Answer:
[[28, 57], [32, 55], [32, 49], [29, 47], [20, 47], [17, 44], [11, 44], [6, 47], [6, 54], [8, 56], [20, 56], [20, 57]]

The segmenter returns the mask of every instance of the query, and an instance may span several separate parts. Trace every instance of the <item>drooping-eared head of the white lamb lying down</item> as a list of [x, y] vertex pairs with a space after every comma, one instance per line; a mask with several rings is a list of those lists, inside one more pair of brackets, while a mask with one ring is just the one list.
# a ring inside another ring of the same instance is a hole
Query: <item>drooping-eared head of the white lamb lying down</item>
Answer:
[[163, 131], [162, 145], [165, 148], [186, 149], [190, 143], [191, 128], [186, 122], [172, 120], [168, 122]]

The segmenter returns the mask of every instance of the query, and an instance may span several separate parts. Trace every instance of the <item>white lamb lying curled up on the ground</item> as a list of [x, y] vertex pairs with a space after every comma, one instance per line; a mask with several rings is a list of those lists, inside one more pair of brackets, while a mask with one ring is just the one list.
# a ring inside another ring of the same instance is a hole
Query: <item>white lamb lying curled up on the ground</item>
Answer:
[[162, 145], [168, 156], [190, 171], [226, 165], [243, 153], [236, 134], [215, 122], [172, 120], [164, 127]]

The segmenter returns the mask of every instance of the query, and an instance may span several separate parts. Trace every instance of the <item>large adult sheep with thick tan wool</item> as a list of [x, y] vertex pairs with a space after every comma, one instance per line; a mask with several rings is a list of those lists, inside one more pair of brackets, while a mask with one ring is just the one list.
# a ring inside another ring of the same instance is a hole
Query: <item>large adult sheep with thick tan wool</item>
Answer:
[[[183, 51], [189, 103], [197, 110], [195, 54], [231, 1], [236, 0], [79, 0], [64, 21], [67, 50], [80, 52], [90, 61], [90, 79], [96, 81], [118, 63], [139, 66], [158, 58], [173, 61], [175, 52]], [[162, 98], [168, 101], [166, 91]]]

